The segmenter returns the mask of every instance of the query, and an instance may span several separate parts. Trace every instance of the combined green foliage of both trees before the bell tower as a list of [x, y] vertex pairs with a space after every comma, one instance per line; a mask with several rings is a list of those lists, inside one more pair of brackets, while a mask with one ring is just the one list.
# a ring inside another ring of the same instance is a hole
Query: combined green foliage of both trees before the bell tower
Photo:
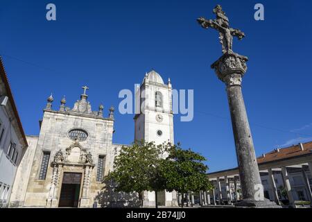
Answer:
[[156, 146], [155, 142], [135, 142], [123, 146], [121, 153], [114, 160], [114, 171], [105, 178], [116, 183], [116, 191], [137, 192], [209, 190], [212, 188], [203, 163], [205, 157], [189, 150], [164, 143]]

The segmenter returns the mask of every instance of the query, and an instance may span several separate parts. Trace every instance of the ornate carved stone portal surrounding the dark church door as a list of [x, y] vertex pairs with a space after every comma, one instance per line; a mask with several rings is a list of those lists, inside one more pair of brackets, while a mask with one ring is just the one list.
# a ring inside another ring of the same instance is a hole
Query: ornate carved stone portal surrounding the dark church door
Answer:
[[78, 142], [55, 153], [46, 207], [91, 207], [89, 185], [95, 167], [91, 153]]

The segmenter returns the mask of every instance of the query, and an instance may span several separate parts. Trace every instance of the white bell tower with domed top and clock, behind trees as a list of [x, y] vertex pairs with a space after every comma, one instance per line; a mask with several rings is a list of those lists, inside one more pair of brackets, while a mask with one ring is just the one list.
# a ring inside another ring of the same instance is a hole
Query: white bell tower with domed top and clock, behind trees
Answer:
[[[155, 144], [164, 142], [174, 144], [170, 79], [166, 85], [156, 71], [150, 71], [141, 86], [137, 88], [135, 101], [135, 140], [144, 139]], [[144, 191], [143, 198], [145, 207], [155, 206], [155, 192]], [[159, 191], [158, 204], [177, 206], [176, 192]]]

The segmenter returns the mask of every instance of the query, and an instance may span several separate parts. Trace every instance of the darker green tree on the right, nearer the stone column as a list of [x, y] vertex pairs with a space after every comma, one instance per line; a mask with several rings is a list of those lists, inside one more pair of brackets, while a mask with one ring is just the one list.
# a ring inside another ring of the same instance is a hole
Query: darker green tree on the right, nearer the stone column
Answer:
[[199, 153], [184, 150], [170, 144], [167, 145], [168, 157], [161, 164], [162, 178], [166, 180], [168, 191], [178, 191], [182, 194], [182, 207], [184, 194], [189, 191], [209, 191], [213, 188], [207, 177], [208, 167], [203, 163], [205, 157]]

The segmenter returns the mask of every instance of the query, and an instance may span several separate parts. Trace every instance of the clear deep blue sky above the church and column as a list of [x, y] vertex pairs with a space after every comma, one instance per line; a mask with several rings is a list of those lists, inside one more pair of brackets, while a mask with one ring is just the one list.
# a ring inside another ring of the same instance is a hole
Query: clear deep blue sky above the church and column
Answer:
[[[57, 21], [46, 21], [55, 3]], [[194, 89], [194, 119], [175, 117], [175, 141], [208, 158], [210, 171], [236, 167], [225, 85], [210, 69], [221, 56], [218, 34], [196, 18], [214, 18], [220, 3], [231, 26], [245, 32], [234, 51], [248, 56], [243, 95], [257, 155], [312, 140], [312, 1], [15, 1], [0, 0], [0, 54], [28, 135], [51, 92], [72, 106], [89, 101], [108, 113], [121, 89], [155, 69], [175, 89]], [[265, 20], [254, 20], [263, 3]], [[114, 143], [134, 138], [132, 115], [116, 113]]]

